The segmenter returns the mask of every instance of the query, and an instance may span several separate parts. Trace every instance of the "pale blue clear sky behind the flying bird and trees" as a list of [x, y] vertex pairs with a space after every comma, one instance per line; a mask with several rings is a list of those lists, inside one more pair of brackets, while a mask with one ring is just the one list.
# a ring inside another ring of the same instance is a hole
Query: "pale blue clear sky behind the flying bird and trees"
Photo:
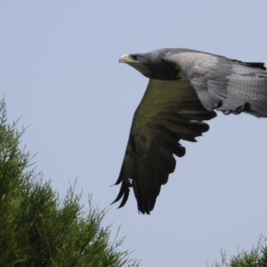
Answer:
[[[125, 53], [188, 47], [267, 62], [267, 2], [0, 1], [0, 93], [9, 117], [30, 125], [37, 170], [85, 203], [109, 206], [134, 109], [148, 79]], [[219, 116], [187, 148], [150, 216], [110, 206], [141, 266], [206, 266], [267, 234], [267, 119]]]

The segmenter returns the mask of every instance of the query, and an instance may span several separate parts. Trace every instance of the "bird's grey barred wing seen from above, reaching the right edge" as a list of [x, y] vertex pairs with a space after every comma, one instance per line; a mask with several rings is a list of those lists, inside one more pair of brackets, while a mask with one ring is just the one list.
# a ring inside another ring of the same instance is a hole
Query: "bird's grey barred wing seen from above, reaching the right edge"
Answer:
[[206, 109], [267, 117], [267, 71], [263, 63], [195, 51], [166, 54], [166, 61], [182, 70]]

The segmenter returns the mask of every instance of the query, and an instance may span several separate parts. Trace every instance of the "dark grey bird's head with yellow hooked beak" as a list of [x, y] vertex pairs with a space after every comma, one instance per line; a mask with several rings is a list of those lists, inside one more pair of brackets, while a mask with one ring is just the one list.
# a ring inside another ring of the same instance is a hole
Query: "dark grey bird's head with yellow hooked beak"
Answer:
[[166, 61], [167, 51], [157, 50], [150, 53], [129, 53], [119, 58], [119, 62], [127, 63], [134, 67], [145, 77], [160, 80], [175, 80], [178, 77], [178, 69], [174, 63]]

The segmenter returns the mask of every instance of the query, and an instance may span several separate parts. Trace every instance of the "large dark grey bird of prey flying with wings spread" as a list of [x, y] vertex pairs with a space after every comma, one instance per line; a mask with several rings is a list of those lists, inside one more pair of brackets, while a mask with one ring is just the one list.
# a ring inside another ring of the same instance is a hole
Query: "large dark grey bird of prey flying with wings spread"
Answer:
[[138, 211], [150, 214], [162, 185], [174, 172], [176, 156], [185, 155], [182, 141], [196, 142], [206, 123], [242, 112], [267, 117], [267, 71], [263, 62], [238, 61], [187, 48], [130, 53], [119, 58], [149, 84], [134, 112], [125, 156], [117, 178], [118, 207], [131, 188]]

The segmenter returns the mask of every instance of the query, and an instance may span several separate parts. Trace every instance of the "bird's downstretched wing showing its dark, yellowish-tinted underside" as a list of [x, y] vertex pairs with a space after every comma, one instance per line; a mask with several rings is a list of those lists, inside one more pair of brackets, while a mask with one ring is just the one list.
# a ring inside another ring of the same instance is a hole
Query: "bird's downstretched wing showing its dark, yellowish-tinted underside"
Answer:
[[125, 158], [116, 184], [121, 188], [114, 202], [124, 206], [129, 188], [134, 188], [139, 211], [150, 214], [162, 184], [174, 172], [174, 155], [182, 157], [180, 140], [195, 142], [208, 130], [202, 120], [215, 117], [206, 110], [186, 79], [150, 79], [147, 91], [136, 109]]

